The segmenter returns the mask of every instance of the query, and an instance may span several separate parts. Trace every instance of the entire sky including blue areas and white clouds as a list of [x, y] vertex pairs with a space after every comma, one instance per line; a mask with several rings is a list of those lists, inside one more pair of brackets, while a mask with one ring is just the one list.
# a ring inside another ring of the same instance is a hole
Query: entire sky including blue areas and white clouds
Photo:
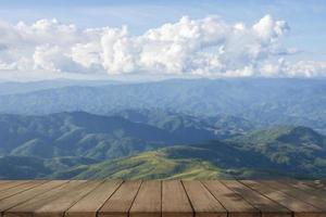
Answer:
[[325, 77], [325, 0], [11, 0], [0, 79]]

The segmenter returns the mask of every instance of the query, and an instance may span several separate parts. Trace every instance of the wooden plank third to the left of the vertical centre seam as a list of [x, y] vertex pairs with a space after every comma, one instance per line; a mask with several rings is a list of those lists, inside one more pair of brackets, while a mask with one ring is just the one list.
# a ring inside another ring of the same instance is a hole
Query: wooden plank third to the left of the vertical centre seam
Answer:
[[123, 181], [105, 181], [88, 195], [78, 201], [67, 212], [66, 217], [96, 217], [97, 212], [120, 188]]

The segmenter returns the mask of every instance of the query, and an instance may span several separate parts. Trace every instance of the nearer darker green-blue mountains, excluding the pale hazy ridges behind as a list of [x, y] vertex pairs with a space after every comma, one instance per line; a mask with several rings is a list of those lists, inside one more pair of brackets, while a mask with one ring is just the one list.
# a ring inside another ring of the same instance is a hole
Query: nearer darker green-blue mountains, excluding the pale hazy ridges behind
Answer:
[[308, 127], [253, 126], [148, 110], [0, 115], [0, 178], [325, 177], [325, 136]]

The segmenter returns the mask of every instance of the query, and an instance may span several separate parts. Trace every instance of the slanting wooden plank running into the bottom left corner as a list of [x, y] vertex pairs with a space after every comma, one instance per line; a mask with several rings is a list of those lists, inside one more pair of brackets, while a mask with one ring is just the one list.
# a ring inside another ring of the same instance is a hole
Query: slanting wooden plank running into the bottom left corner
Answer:
[[61, 184], [63, 184], [65, 182], [67, 182], [67, 181], [49, 181], [47, 183], [37, 186], [33, 189], [28, 189], [22, 193], [3, 199], [0, 201], [0, 212], [2, 213], [15, 205], [18, 205], [29, 199], [33, 199], [34, 196], [37, 196], [37, 195], [45, 193], [51, 189], [60, 187]]

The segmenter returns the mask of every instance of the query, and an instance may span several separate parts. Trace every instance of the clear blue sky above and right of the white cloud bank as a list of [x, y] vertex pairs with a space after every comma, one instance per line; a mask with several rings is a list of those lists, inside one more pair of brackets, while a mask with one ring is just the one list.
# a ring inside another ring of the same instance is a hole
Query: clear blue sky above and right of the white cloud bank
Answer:
[[217, 15], [229, 25], [241, 22], [252, 26], [266, 14], [290, 26], [279, 39], [284, 47], [298, 50], [289, 60], [326, 61], [325, 0], [10, 0], [0, 5], [0, 20], [12, 25], [55, 17], [78, 28], [127, 25], [134, 36], [176, 23], [185, 15], [191, 20]]

